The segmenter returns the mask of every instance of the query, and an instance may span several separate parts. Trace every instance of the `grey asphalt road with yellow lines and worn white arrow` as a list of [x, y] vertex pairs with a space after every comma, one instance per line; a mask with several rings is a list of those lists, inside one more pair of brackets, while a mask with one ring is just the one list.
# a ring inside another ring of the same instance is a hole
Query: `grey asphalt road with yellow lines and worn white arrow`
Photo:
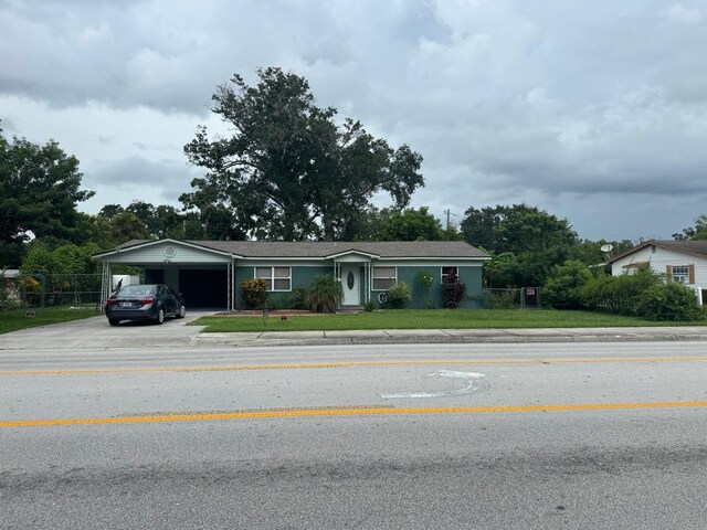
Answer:
[[705, 528], [704, 342], [0, 352], [0, 528]]

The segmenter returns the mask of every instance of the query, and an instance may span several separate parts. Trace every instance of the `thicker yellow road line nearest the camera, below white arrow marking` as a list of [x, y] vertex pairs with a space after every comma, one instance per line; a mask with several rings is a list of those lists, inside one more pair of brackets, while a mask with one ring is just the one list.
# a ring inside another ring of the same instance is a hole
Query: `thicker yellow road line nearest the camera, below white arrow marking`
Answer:
[[707, 401], [680, 401], [663, 403], [588, 403], [564, 405], [519, 405], [519, 406], [453, 406], [453, 407], [350, 407], [350, 409], [283, 409], [213, 414], [156, 414], [118, 417], [88, 417], [66, 420], [19, 420], [0, 422], [0, 428], [48, 427], [60, 425], [110, 425], [126, 423], [175, 423], [211, 422], [217, 420], [262, 420], [276, 417], [315, 416], [360, 416], [399, 414], [475, 414], [500, 412], [563, 412], [563, 411], [615, 411], [645, 409], [695, 409], [707, 407]]

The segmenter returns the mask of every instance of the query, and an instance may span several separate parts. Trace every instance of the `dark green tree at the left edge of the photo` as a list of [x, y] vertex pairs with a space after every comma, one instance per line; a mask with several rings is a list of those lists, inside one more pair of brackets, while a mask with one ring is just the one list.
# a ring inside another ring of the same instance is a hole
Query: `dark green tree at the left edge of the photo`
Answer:
[[19, 265], [30, 232], [81, 241], [76, 204], [93, 195], [81, 189], [81, 179], [78, 160], [55, 141], [8, 141], [0, 129], [0, 266]]

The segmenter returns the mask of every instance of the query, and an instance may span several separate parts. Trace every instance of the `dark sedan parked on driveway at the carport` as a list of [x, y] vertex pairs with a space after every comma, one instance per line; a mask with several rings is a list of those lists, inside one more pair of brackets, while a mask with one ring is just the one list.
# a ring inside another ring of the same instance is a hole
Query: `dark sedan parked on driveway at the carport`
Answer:
[[165, 317], [184, 318], [187, 308], [181, 293], [175, 293], [162, 284], [126, 285], [106, 303], [106, 317], [110, 326], [120, 320], [155, 320], [162, 324]]

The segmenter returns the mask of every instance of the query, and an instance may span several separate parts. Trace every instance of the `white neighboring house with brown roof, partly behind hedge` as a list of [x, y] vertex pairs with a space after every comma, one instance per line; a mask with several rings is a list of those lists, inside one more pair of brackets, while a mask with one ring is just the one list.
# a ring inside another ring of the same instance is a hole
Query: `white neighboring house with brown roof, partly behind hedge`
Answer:
[[648, 240], [609, 259], [611, 274], [631, 274], [651, 268], [666, 282], [679, 282], [695, 290], [699, 304], [707, 304], [707, 241]]

